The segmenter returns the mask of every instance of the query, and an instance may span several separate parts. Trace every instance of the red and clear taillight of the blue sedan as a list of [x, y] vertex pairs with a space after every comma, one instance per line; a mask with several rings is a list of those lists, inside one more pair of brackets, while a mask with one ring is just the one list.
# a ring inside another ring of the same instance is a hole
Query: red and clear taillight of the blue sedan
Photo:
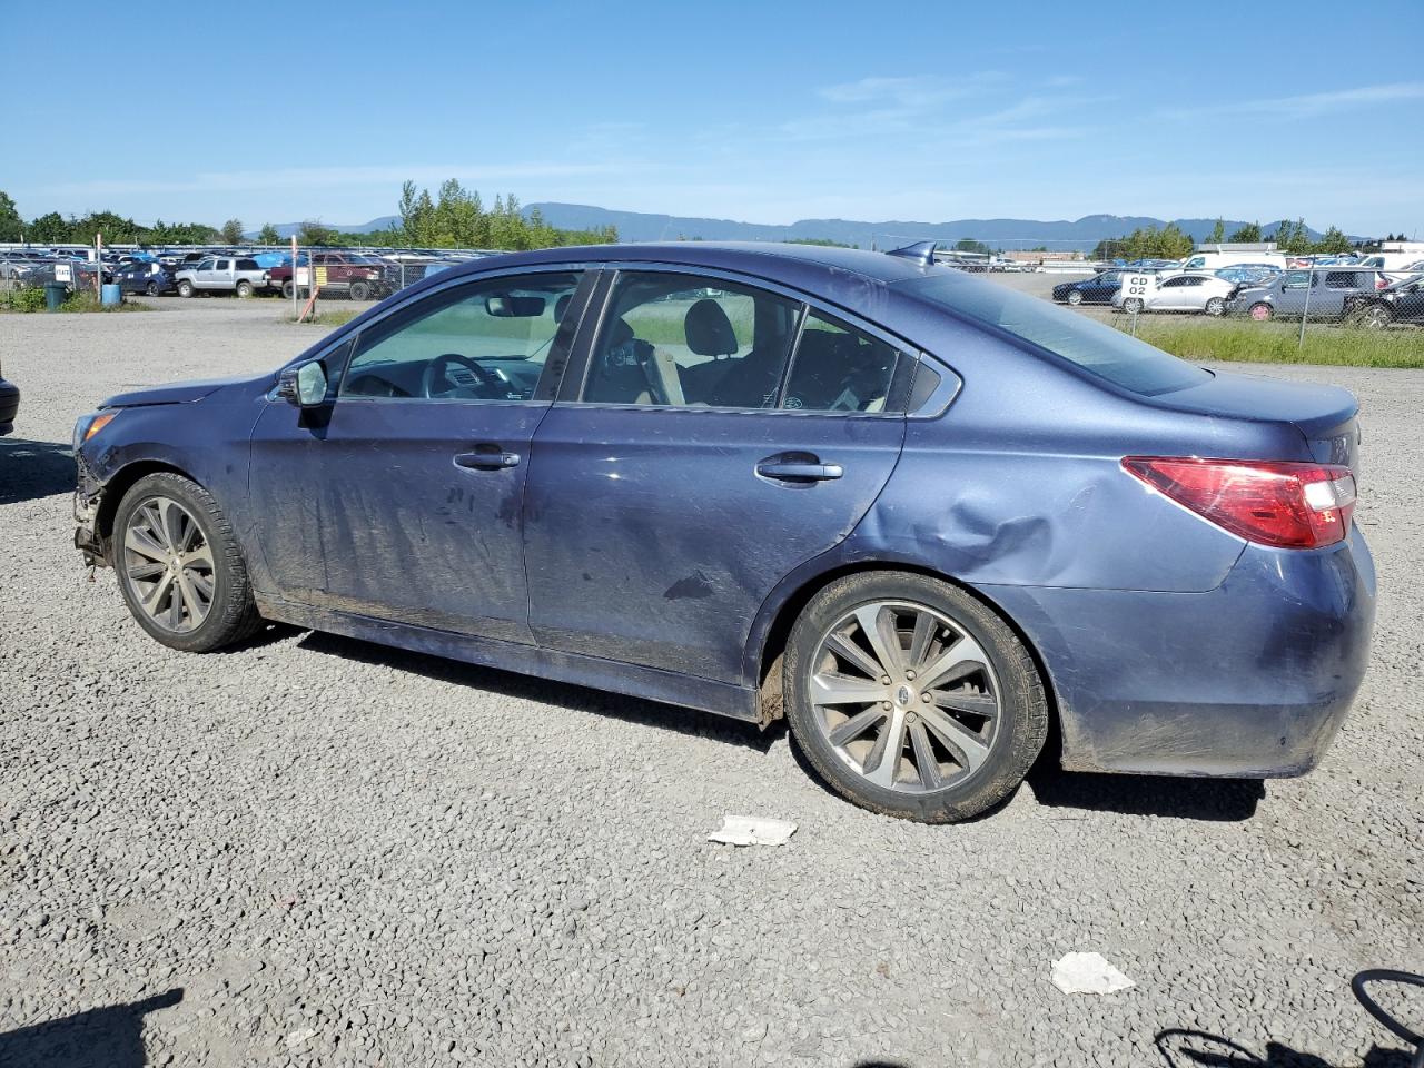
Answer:
[[1232, 534], [1276, 548], [1343, 541], [1354, 514], [1349, 467], [1129, 456], [1122, 468]]

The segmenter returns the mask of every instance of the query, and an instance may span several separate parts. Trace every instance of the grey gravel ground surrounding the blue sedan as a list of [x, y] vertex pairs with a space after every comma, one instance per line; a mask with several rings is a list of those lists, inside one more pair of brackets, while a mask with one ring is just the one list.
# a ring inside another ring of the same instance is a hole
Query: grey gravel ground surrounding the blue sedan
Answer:
[[[269, 302], [0, 316], [0, 1064], [1403, 1065], [1349, 977], [1424, 971], [1424, 373], [1364, 404], [1374, 664], [1324, 765], [1049, 766], [975, 823], [871, 816], [783, 729], [273, 629], [148, 641], [70, 548], [70, 427], [255, 372]], [[705, 840], [796, 820], [779, 849]], [[1067, 997], [1096, 950], [1136, 987]], [[1424, 1022], [1424, 1001], [1411, 1008]], [[66, 1059], [68, 1058], [68, 1059]], [[1175, 1058], [1175, 1059], [1173, 1059]], [[1313, 1059], [1320, 1058], [1320, 1059]]]

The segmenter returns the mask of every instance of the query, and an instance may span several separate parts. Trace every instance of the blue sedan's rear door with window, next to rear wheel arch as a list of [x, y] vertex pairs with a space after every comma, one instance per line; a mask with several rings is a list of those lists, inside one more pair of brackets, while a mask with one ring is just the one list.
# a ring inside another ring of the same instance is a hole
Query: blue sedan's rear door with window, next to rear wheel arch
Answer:
[[742, 685], [773, 587], [890, 477], [914, 360], [755, 281], [648, 268], [605, 288], [534, 439], [530, 625], [564, 652]]

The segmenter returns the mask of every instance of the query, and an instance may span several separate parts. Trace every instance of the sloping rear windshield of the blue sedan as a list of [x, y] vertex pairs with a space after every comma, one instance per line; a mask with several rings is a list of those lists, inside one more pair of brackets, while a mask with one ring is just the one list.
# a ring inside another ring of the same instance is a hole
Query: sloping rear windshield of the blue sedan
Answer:
[[1209, 372], [1122, 330], [993, 282], [931, 273], [896, 289], [1005, 330], [1134, 393], [1155, 396], [1210, 379]]

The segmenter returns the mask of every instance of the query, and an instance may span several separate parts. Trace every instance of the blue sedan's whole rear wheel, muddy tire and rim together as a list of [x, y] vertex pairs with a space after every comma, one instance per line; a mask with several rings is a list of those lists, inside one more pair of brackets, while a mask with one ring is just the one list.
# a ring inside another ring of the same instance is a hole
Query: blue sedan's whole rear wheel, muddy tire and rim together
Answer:
[[[883, 658], [862, 618], [884, 628], [881, 648], [889, 635], [899, 645], [880, 679], [873, 671]], [[849, 656], [840, 652], [847, 645]], [[965, 659], [956, 661], [956, 651], [967, 651]], [[923, 678], [954, 674], [951, 686], [963, 689], [918, 692], [911, 664]], [[891, 681], [880, 693], [884, 678]], [[834, 692], [837, 681], [847, 688]], [[998, 805], [1048, 736], [1044, 684], [1024, 644], [983, 601], [927, 575], [870, 571], [816, 594], [792, 628], [782, 685], [792, 738], [812, 766], [843, 797], [897, 819], [954, 823]]]

